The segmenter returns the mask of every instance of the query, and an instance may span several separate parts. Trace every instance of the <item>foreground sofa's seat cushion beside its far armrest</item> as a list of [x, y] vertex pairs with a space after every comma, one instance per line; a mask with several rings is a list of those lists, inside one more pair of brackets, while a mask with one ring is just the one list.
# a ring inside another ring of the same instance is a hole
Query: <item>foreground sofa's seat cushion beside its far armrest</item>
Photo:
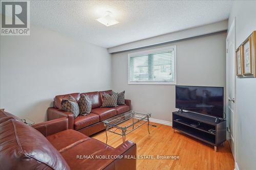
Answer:
[[64, 152], [67, 149], [90, 139], [90, 137], [73, 129], [61, 131], [53, 135], [47, 136], [46, 138], [59, 152]]

